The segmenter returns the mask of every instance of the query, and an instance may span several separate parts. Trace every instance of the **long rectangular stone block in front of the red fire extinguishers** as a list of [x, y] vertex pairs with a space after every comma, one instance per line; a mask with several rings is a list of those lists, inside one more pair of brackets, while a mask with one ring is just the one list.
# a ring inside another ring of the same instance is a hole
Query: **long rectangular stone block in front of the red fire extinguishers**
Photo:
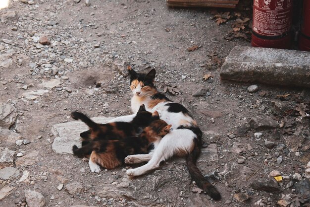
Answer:
[[223, 80], [310, 87], [310, 53], [236, 46], [220, 71]]

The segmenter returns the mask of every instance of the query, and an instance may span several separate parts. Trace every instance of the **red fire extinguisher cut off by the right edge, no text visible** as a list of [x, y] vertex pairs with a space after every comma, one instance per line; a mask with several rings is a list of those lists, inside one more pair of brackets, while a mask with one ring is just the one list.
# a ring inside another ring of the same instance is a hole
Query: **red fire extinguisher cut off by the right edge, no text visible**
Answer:
[[304, 0], [303, 22], [299, 36], [299, 49], [310, 51], [310, 0]]

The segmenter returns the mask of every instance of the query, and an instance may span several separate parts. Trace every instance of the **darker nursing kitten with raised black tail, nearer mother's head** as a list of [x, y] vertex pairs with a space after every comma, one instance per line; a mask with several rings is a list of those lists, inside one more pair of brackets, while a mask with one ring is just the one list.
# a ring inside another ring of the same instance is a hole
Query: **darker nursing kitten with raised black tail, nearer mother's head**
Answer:
[[[90, 139], [120, 139], [137, 135], [143, 128], [148, 126], [152, 119], [152, 113], [147, 112], [144, 104], [138, 110], [137, 116], [131, 122], [113, 122], [107, 124], [97, 124], [81, 112], [72, 112], [71, 117], [84, 122], [90, 130], [80, 134], [82, 147], [85, 147], [84, 156], [90, 155], [92, 150], [87, 146]], [[87, 151], [86, 149], [89, 148]]]

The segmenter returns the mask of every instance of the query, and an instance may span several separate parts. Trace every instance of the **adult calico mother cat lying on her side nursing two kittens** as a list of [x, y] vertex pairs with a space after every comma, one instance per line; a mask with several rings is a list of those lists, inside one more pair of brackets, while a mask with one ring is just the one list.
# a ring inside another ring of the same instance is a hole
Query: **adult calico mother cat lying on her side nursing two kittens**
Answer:
[[[147, 164], [126, 171], [129, 176], [139, 176], [159, 167], [161, 161], [173, 155], [187, 156], [187, 168], [197, 186], [202, 188], [214, 200], [221, 199], [220, 193], [202, 175], [196, 166], [201, 146], [202, 131], [189, 111], [181, 104], [169, 100], [164, 94], [157, 91], [155, 83], [155, 69], [149, 73], [137, 73], [128, 67], [130, 74], [130, 89], [133, 92], [131, 109], [137, 113], [139, 107], [144, 104], [146, 110], [157, 111], [160, 119], [172, 125], [173, 131], [161, 139], [155, 146], [154, 152], [149, 154], [130, 155], [125, 158], [126, 163], [140, 163], [149, 161]], [[115, 118], [111, 122], [130, 122], [136, 115], [128, 115]]]

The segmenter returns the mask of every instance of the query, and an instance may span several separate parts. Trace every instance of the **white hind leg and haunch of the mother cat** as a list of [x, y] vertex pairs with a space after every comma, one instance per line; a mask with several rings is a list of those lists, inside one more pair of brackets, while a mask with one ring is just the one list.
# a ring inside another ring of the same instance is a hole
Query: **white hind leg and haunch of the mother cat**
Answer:
[[[126, 174], [129, 176], [139, 176], [147, 173], [150, 170], [154, 170], [159, 167], [161, 161], [165, 161], [172, 157], [176, 151], [191, 152], [193, 146], [193, 139], [196, 135], [187, 129], [178, 129], [170, 132], [164, 138], [161, 139], [158, 146], [154, 150], [154, 154], [150, 161], [138, 168], [129, 169]], [[132, 158], [136, 158], [135, 155], [131, 155]], [[137, 156], [142, 158], [141, 155]], [[147, 156], [143, 157], [146, 158]]]

